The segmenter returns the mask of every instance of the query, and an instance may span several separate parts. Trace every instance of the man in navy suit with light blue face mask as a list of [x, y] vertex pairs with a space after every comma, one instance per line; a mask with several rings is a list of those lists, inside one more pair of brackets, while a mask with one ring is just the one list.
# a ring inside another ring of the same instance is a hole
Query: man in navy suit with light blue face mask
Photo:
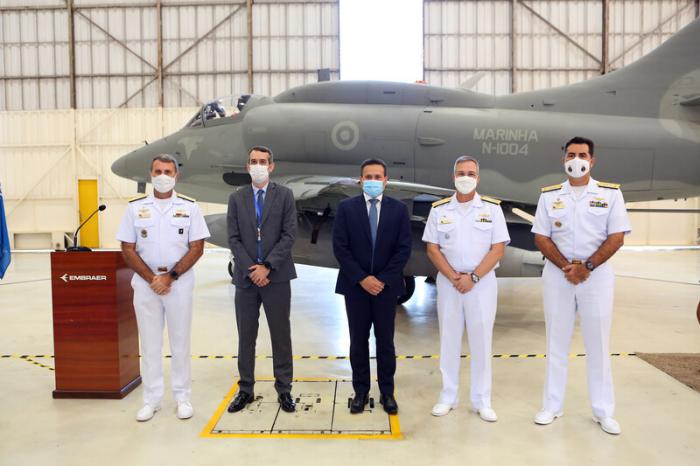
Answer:
[[369, 400], [369, 331], [374, 325], [380, 403], [396, 414], [394, 318], [398, 297], [405, 293], [411, 224], [406, 206], [382, 194], [389, 179], [382, 160], [365, 160], [360, 174], [363, 194], [342, 201], [333, 224], [333, 252], [340, 265], [335, 292], [345, 296], [350, 328], [355, 389], [350, 412], [364, 411]]

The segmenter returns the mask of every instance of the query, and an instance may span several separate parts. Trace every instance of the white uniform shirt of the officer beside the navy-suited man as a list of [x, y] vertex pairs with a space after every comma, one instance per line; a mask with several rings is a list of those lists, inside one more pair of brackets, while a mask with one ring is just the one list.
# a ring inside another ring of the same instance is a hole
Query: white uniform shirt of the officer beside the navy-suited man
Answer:
[[500, 205], [481, 199], [478, 193], [466, 213], [459, 205], [455, 194], [450, 202], [433, 207], [423, 241], [439, 245], [440, 252], [456, 272], [473, 272], [491, 245], [510, 243], [510, 235]]

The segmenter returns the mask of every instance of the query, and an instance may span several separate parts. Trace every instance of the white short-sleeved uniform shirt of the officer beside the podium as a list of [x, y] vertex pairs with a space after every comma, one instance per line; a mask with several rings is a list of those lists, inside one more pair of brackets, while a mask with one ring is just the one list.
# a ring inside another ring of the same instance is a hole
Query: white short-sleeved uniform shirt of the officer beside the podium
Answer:
[[129, 202], [117, 232], [117, 240], [136, 243], [136, 253], [154, 273], [159, 268], [171, 270], [187, 254], [191, 242], [210, 236], [194, 200], [174, 191], [171, 200], [163, 211], [153, 195]]

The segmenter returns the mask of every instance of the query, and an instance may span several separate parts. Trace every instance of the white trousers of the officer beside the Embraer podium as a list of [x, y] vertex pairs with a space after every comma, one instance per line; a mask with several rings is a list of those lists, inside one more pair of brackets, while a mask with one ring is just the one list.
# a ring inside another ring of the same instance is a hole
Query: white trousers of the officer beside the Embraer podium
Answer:
[[159, 296], [148, 283], [134, 274], [134, 310], [141, 340], [141, 381], [143, 401], [159, 406], [163, 398], [163, 329], [168, 325], [170, 379], [177, 403], [189, 401], [192, 393], [190, 334], [194, 273], [190, 270], [173, 282], [170, 292]]

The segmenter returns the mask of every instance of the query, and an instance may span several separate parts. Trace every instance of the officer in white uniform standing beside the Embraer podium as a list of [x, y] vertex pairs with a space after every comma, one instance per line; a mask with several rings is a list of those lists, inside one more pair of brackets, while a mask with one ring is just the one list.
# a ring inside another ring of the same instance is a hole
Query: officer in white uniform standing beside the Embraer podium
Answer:
[[177, 161], [170, 155], [151, 163], [154, 192], [129, 202], [117, 233], [124, 260], [134, 270], [134, 310], [141, 340], [143, 407], [138, 421], [148, 421], [163, 397], [163, 328], [168, 325], [172, 353], [171, 382], [177, 417], [188, 419], [190, 402], [190, 333], [192, 325], [192, 266], [202, 256], [209, 230], [199, 207], [174, 191]]

